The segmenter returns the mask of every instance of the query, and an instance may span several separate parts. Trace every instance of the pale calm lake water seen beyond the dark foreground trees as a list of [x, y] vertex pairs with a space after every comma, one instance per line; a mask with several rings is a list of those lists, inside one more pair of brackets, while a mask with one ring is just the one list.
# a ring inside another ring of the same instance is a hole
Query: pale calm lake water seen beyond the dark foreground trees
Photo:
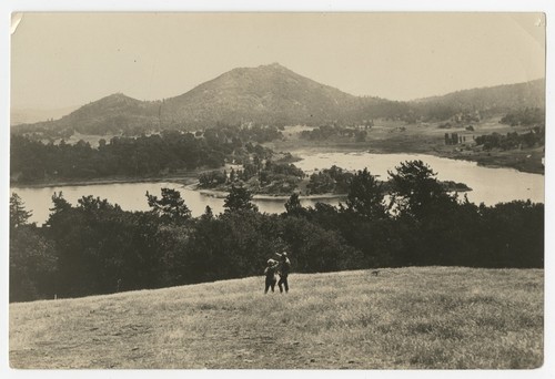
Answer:
[[[299, 152], [296, 152], [299, 154]], [[306, 173], [314, 170], [329, 168], [336, 165], [346, 170], [362, 170], [367, 167], [373, 175], [381, 180], [387, 178], [387, 171], [393, 171], [400, 162], [410, 160], [422, 160], [427, 163], [437, 178], [441, 181], [454, 181], [468, 185], [473, 191], [467, 193], [473, 203], [494, 205], [513, 199], [531, 199], [534, 203], [544, 203], [544, 176], [539, 174], [522, 173], [513, 168], [482, 167], [476, 163], [467, 161], [455, 161], [432, 155], [420, 154], [371, 154], [365, 152], [303, 152], [299, 154], [302, 161], [295, 165]], [[94, 184], [75, 186], [52, 187], [12, 187], [26, 204], [28, 211], [32, 211], [31, 223], [41, 225], [48, 219], [49, 208], [52, 206], [51, 197], [54, 192], [63, 192], [63, 197], [71, 204], [82, 196], [93, 195], [107, 198], [110, 203], [119, 204], [125, 211], [148, 211], [147, 191], [160, 196], [160, 188], [169, 187], [179, 190], [185, 204], [193, 216], [200, 216], [206, 205], [216, 213], [223, 212], [223, 198], [216, 198], [201, 194], [181, 184], [169, 182], [148, 183], [121, 183], [121, 184]], [[337, 205], [339, 199], [319, 199], [329, 204]], [[255, 199], [260, 212], [282, 213], [285, 211], [285, 199]], [[302, 199], [303, 206], [311, 206], [315, 199]]]

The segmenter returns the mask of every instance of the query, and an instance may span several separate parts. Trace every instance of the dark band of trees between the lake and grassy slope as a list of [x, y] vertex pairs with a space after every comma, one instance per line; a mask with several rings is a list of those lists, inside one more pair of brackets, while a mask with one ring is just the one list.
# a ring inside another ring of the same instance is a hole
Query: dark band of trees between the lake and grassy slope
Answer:
[[[544, 206], [475, 205], [445, 192], [421, 161], [390, 172], [390, 190], [366, 170], [344, 204], [303, 207], [292, 195], [280, 215], [261, 214], [232, 186], [225, 212], [191, 217], [174, 190], [147, 194], [150, 212], [125, 212], [92, 196], [62, 194], [44, 227], [10, 202], [10, 300], [78, 297], [261, 275], [287, 249], [296, 273], [456, 265], [543, 267]], [[386, 201], [387, 198], [387, 201]]]

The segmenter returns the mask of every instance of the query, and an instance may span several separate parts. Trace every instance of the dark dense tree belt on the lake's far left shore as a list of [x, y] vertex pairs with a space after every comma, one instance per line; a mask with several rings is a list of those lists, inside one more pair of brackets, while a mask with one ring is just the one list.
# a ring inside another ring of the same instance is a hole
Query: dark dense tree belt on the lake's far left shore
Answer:
[[[262, 139], [263, 140], [263, 139]], [[141, 176], [176, 170], [220, 167], [226, 158], [239, 162], [251, 154], [271, 152], [251, 142], [206, 130], [202, 136], [167, 131], [140, 137], [100, 140], [94, 148], [80, 141], [43, 144], [26, 136], [11, 137], [11, 174], [18, 182], [49, 178], [95, 178], [111, 175]]]

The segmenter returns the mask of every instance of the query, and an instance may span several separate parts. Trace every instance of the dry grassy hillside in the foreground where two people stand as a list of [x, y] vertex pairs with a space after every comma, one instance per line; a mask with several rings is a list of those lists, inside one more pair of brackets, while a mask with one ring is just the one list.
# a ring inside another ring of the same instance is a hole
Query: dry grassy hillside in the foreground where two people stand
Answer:
[[537, 368], [542, 269], [262, 277], [10, 305], [12, 368]]

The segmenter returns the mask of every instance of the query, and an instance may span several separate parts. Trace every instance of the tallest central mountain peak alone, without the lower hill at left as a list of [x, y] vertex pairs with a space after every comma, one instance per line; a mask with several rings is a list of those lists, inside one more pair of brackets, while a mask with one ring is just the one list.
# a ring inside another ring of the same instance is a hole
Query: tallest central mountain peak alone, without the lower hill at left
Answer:
[[350, 120], [362, 100], [278, 63], [234, 69], [164, 102], [165, 123], [320, 124]]

